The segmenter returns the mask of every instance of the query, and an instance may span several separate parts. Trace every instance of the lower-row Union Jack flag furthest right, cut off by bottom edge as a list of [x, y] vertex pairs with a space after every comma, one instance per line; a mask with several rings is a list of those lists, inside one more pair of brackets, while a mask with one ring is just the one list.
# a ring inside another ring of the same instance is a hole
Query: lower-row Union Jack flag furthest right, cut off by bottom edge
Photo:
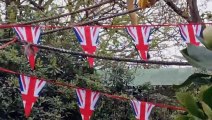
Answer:
[[137, 120], [148, 120], [151, 110], [154, 107], [151, 103], [137, 100], [131, 100], [131, 106]]

